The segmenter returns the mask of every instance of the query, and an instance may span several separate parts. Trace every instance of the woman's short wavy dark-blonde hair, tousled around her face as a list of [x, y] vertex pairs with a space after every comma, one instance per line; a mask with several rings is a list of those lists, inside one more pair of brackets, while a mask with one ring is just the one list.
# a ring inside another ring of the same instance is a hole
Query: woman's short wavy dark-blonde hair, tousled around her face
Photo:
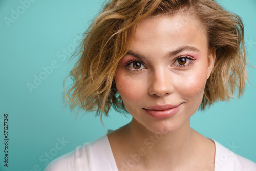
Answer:
[[[147, 16], [189, 12], [204, 27], [209, 51], [215, 51], [214, 69], [208, 78], [201, 109], [218, 100], [229, 100], [238, 88], [240, 97], [246, 82], [244, 26], [241, 18], [214, 0], [112, 0], [102, 8], [84, 33], [78, 61], [67, 77], [73, 80], [66, 94], [71, 104], [96, 116], [108, 116], [111, 106], [127, 112], [116, 89], [114, 76], [120, 59], [127, 53], [137, 23]], [[135, 29], [132, 31], [132, 26]], [[67, 97], [69, 100], [67, 101]]]

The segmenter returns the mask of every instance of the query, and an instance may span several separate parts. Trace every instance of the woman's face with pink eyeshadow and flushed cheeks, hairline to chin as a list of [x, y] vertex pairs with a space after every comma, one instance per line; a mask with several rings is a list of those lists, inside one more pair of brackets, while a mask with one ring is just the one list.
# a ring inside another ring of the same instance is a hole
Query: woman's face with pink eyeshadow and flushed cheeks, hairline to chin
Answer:
[[190, 126], [214, 65], [207, 45], [200, 23], [184, 13], [139, 22], [115, 75], [133, 121], [153, 133]]

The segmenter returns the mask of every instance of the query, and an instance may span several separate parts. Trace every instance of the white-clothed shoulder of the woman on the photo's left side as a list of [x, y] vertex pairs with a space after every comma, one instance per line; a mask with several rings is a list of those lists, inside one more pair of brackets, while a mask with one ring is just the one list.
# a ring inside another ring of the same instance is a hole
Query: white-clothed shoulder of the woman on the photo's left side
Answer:
[[53, 160], [45, 171], [118, 170], [107, 135]]

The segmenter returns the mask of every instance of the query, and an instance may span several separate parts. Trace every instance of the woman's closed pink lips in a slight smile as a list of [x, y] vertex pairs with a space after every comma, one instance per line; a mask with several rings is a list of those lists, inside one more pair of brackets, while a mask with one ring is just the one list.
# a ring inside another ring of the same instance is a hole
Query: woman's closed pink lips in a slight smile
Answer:
[[144, 111], [153, 118], [163, 119], [173, 116], [177, 113], [180, 105], [156, 105], [147, 108], [143, 108]]

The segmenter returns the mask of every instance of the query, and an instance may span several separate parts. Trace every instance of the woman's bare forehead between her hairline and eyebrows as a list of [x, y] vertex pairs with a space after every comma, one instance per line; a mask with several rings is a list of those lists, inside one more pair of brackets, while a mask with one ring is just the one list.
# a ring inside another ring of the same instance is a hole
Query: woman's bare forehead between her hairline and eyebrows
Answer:
[[207, 48], [207, 37], [197, 19], [183, 14], [147, 17], [138, 23], [131, 49], [162, 50], [191, 46]]

